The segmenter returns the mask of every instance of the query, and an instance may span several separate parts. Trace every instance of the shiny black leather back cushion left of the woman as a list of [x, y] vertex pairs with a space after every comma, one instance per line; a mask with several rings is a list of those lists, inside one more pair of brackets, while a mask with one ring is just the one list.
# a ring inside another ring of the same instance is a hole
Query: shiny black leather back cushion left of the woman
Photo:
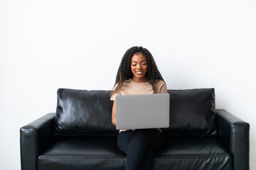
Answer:
[[58, 89], [55, 135], [117, 135], [110, 91]]

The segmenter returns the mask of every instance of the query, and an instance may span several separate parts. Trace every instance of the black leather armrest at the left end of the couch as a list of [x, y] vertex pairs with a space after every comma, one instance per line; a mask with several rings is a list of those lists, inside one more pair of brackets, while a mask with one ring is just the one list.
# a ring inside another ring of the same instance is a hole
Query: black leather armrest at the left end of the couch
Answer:
[[55, 113], [48, 113], [20, 129], [21, 170], [36, 170], [38, 154], [54, 140]]

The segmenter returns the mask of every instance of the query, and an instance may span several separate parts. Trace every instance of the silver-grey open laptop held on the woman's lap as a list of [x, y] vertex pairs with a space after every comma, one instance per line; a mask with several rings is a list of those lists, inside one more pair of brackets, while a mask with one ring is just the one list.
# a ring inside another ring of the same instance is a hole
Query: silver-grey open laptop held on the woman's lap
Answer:
[[116, 128], [169, 128], [169, 110], [170, 94], [116, 96]]

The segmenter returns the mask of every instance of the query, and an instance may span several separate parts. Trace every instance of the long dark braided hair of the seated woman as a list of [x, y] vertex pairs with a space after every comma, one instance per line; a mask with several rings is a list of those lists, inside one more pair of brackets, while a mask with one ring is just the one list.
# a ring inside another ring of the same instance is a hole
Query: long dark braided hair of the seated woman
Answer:
[[[142, 46], [139, 46], [139, 47], [134, 46], [134, 47], [130, 47], [122, 57], [122, 61], [119, 64], [117, 77], [115, 79], [114, 86], [110, 96], [112, 96], [112, 94], [116, 93], [121, 88], [125, 80], [133, 77], [132, 70], [131, 70], [132, 56], [139, 55], [139, 54], [142, 54], [146, 57], [146, 62], [148, 64], [146, 78], [148, 79], [149, 84], [151, 84], [154, 94], [156, 94], [156, 87], [155, 87], [156, 79], [160, 79], [162, 81], [164, 81], [164, 79], [163, 77], [161, 77], [161, 73], [157, 69], [156, 62], [154, 61], [154, 58], [149, 52], [149, 50], [147, 50]], [[164, 84], [166, 85], [165, 81], [164, 81]], [[116, 88], [114, 88], [115, 86]]]

